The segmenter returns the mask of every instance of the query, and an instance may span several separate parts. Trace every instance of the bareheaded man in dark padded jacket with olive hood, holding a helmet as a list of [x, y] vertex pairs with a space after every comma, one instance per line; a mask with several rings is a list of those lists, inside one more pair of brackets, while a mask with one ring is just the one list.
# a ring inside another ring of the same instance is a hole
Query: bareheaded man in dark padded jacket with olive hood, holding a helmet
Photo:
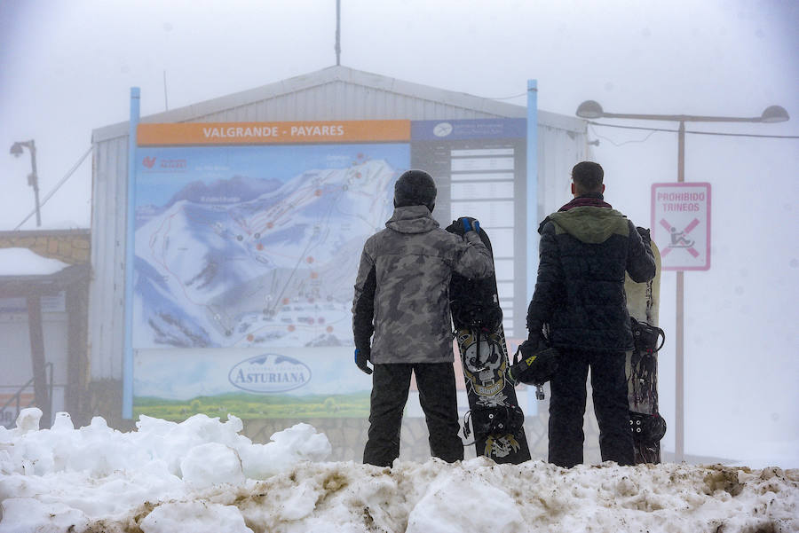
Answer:
[[655, 263], [648, 231], [605, 203], [603, 177], [597, 163], [575, 165], [574, 200], [547, 216], [538, 230], [540, 263], [524, 344], [534, 350], [545, 338], [561, 353], [550, 398], [549, 460], [558, 466], [582, 462], [589, 368], [602, 460], [634, 462], [624, 372], [633, 337], [624, 273], [648, 281]]

